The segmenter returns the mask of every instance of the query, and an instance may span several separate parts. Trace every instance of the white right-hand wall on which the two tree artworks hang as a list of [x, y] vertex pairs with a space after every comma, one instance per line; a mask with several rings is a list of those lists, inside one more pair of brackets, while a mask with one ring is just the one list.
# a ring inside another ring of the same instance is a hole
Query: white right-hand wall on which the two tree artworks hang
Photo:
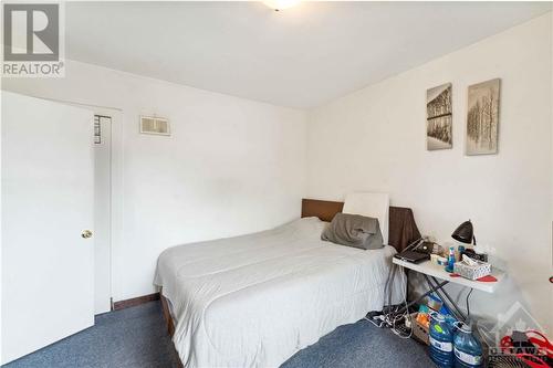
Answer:
[[[474, 293], [474, 312], [495, 316], [515, 301], [552, 332], [551, 13], [311, 112], [307, 197], [390, 193], [424, 234], [452, 242], [471, 219], [509, 280]], [[399, 55], [398, 55], [399, 56]], [[465, 156], [467, 87], [501, 78], [499, 154]], [[426, 150], [426, 90], [453, 84], [453, 148]], [[462, 303], [465, 305], [465, 303]]]

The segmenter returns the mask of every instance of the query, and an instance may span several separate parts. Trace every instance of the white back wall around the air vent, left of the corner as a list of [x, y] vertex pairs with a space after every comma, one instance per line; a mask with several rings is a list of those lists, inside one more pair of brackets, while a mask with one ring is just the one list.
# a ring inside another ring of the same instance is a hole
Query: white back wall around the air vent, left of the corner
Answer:
[[[121, 168], [114, 196], [122, 200], [112, 245], [114, 301], [154, 292], [156, 260], [168, 246], [263, 230], [300, 214], [303, 112], [76, 62], [67, 63], [65, 78], [2, 83], [21, 94], [122, 109], [114, 137]], [[138, 134], [140, 114], [168, 117], [173, 136]]]

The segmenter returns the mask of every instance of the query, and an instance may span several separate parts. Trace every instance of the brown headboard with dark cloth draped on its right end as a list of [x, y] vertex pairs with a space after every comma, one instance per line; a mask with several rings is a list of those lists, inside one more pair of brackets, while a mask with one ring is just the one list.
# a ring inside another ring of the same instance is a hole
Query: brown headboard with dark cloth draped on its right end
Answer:
[[[302, 199], [302, 218], [316, 217], [323, 221], [332, 221], [336, 213], [342, 212], [344, 202]], [[413, 241], [420, 238], [410, 208], [389, 207], [388, 243], [400, 252]]]

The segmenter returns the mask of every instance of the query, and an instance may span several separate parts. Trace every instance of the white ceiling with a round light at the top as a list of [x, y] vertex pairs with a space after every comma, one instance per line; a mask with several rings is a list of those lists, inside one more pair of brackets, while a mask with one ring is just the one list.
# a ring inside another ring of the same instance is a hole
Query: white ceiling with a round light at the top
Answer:
[[547, 2], [67, 2], [66, 56], [310, 108], [551, 10]]

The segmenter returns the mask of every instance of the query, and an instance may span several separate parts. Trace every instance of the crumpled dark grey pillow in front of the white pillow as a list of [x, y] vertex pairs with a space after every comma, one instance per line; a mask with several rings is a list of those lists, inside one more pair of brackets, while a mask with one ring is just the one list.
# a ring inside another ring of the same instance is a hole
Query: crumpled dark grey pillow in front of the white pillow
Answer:
[[321, 239], [365, 250], [384, 246], [378, 219], [351, 213], [336, 213]]

